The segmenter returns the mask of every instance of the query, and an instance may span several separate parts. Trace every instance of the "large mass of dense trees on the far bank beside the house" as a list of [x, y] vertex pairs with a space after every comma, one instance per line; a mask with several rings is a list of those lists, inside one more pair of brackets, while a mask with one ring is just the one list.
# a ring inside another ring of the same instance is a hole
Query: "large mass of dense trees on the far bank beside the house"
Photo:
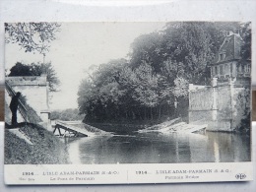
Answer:
[[176, 22], [138, 36], [127, 60], [102, 64], [82, 80], [78, 103], [85, 121], [186, 117], [188, 84], [211, 82], [209, 66], [224, 36], [240, 28], [239, 23]]

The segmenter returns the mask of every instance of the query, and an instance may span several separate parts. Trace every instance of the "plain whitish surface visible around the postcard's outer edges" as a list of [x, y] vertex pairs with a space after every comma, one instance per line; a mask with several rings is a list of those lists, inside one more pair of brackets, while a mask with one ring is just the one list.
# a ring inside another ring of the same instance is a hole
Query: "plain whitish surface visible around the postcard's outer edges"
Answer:
[[[59, 22], [99, 22], [99, 21], [252, 21], [253, 29], [256, 24], [255, 1], [171, 1], [169, 3], [148, 6], [112, 6], [112, 7], [96, 7], [86, 5], [72, 5], [56, 3], [45, 0], [2, 0], [0, 2], [0, 45], [3, 47], [3, 23], [4, 22], [31, 22], [31, 21], [59, 21]], [[255, 33], [253, 33], [253, 40]], [[255, 41], [255, 40], [254, 40]], [[252, 47], [255, 50], [255, 43]], [[0, 65], [3, 65], [3, 49], [0, 53]], [[252, 57], [252, 84], [256, 86], [256, 66], [255, 56]], [[2, 67], [2, 66], [1, 66]], [[2, 67], [3, 69], [3, 67]], [[4, 70], [1, 70], [1, 77], [3, 77]], [[1, 82], [3, 83], [3, 81]], [[0, 126], [0, 149], [3, 157], [3, 124]], [[253, 123], [252, 135], [255, 136], [256, 123]], [[252, 142], [252, 148], [255, 149], [255, 139]], [[253, 164], [255, 165], [255, 150], [253, 152]], [[3, 164], [3, 159], [0, 160]], [[0, 173], [3, 173], [3, 166], [1, 166]], [[3, 174], [1, 174], [3, 177]], [[255, 177], [255, 174], [254, 174]], [[1, 179], [1, 178], [0, 178]], [[3, 182], [1, 179], [0, 182]], [[256, 189], [256, 182], [242, 182], [242, 183], [218, 183], [218, 184], [179, 184], [171, 185], [171, 190], [181, 191], [254, 191]], [[92, 191], [130, 191], [130, 190], [147, 190], [147, 191], [169, 191], [169, 185], [147, 185], [147, 186], [125, 186], [122, 185], [111, 186], [94, 186], [89, 188]], [[36, 188], [36, 190], [44, 191], [63, 191], [63, 187]], [[84, 187], [77, 186], [76, 190], [84, 190]], [[66, 191], [73, 191], [74, 186], [65, 186]], [[34, 187], [6, 187], [1, 183], [0, 191], [34, 191]]]

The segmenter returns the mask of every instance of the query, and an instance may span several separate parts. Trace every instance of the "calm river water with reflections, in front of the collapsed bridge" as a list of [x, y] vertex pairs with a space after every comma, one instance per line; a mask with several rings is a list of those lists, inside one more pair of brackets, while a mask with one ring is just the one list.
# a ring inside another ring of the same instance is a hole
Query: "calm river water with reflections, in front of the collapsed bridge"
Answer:
[[250, 160], [245, 135], [144, 133], [73, 139], [68, 142], [72, 163], [175, 163]]

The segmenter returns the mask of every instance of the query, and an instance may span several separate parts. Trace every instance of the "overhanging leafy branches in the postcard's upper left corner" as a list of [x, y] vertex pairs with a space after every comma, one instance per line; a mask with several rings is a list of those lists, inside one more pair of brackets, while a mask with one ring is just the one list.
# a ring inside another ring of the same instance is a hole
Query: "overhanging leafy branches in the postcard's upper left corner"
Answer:
[[5, 41], [18, 43], [25, 52], [45, 54], [59, 28], [57, 23], [5, 23]]

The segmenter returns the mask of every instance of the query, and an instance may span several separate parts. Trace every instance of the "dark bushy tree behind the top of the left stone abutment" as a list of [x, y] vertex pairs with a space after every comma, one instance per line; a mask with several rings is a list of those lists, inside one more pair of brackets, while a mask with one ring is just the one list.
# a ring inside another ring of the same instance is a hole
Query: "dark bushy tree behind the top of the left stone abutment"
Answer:
[[50, 62], [32, 63], [30, 65], [17, 62], [15, 66], [10, 69], [8, 76], [41, 76], [42, 74], [46, 75], [47, 82], [49, 82], [49, 91], [56, 92], [60, 82]]

